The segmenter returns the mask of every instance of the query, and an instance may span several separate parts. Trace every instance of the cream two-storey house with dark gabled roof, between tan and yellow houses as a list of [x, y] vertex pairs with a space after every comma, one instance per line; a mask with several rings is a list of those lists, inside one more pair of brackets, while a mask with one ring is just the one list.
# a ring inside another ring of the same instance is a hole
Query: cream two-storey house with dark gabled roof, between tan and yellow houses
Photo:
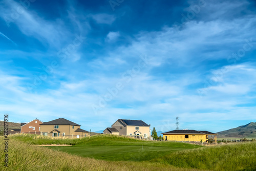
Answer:
[[118, 119], [111, 127], [107, 127], [103, 134], [148, 138], [151, 136], [151, 131], [150, 125], [142, 120]]

